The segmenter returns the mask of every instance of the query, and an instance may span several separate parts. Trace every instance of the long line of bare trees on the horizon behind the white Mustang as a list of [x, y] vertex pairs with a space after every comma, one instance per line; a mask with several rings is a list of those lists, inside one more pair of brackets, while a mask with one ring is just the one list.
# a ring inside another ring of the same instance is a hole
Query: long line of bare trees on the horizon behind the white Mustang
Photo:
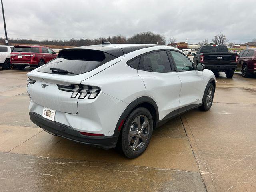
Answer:
[[[0, 38], [0, 44], [4, 43], [4, 38]], [[112, 37], [99, 37], [95, 39], [89, 38], [72, 38], [70, 40], [32, 40], [32, 39], [9, 39], [10, 44], [37, 44], [37, 45], [58, 45], [58, 46], [87, 46], [101, 44], [102, 40], [108, 40], [112, 44], [116, 43], [137, 43], [137, 44], [166, 44], [166, 37], [163, 34], [155, 34], [153, 32], [141, 32], [134, 34], [133, 36], [126, 38], [123, 35], [117, 35]]]

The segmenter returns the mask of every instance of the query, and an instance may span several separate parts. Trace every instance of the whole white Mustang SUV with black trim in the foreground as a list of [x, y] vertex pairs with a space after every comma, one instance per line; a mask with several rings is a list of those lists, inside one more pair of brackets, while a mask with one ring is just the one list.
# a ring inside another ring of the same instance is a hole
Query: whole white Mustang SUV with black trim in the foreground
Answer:
[[30, 119], [46, 132], [142, 154], [154, 128], [188, 110], [212, 106], [215, 76], [180, 50], [106, 44], [60, 50], [27, 75]]

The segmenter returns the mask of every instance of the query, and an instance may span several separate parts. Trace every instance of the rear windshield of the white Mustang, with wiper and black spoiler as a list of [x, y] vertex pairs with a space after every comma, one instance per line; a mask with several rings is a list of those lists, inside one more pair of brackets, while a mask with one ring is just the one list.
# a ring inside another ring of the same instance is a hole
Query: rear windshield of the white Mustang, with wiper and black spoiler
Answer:
[[38, 71], [78, 75], [92, 71], [115, 58], [115, 56], [96, 50], [62, 50], [56, 59], [48, 62]]

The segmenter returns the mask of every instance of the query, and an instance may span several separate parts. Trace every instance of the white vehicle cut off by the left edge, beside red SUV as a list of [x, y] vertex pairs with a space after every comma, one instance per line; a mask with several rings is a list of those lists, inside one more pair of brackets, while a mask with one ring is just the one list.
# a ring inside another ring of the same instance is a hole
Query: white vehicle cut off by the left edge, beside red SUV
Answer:
[[10, 63], [12, 50], [13, 46], [0, 45], [0, 66], [4, 69], [10, 69], [12, 67]]

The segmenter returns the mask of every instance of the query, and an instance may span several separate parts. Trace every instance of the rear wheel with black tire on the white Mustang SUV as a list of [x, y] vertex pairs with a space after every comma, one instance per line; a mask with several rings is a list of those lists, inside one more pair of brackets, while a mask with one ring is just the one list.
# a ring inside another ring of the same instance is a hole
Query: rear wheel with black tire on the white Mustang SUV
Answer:
[[[139, 122], [140, 126], [136, 122]], [[142, 126], [143, 124], [145, 126]], [[117, 145], [118, 150], [130, 159], [140, 156], [146, 150], [152, 132], [153, 119], [149, 110], [144, 107], [136, 108], [124, 122]]]

